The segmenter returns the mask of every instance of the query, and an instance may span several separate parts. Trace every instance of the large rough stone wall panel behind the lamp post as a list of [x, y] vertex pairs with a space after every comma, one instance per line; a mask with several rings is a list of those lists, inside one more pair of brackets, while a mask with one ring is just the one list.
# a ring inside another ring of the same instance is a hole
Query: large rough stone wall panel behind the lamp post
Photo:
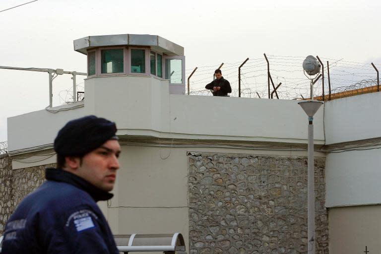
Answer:
[[[328, 254], [325, 159], [315, 159], [316, 253]], [[307, 253], [307, 157], [189, 153], [190, 254]]]

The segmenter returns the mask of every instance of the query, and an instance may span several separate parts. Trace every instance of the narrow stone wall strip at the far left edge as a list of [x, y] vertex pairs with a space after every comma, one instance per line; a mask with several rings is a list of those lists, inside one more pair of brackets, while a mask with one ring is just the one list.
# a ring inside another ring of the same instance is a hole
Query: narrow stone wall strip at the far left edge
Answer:
[[4, 154], [0, 155], [0, 236], [12, 211], [12, 161]]

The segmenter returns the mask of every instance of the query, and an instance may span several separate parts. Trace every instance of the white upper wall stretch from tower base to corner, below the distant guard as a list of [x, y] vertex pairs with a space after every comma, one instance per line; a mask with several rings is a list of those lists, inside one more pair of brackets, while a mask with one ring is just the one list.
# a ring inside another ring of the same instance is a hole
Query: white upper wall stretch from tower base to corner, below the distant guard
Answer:
[[[324, 142], [320, 109], [316, 143]], [[176, 119], [176, 120], [174, 120]], [[171, 130], [206, 139], [306, 143], [308, 119], [295, 100], [171, 95]]]

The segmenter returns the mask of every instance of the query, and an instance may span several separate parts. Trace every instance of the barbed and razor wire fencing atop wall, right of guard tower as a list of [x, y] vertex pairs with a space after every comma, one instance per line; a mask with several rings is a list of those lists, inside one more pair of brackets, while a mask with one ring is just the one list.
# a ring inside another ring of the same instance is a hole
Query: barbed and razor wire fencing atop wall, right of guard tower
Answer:
[[[310, 97], [310, 79], [304, 74], [302, 63], [304, 57], [296, 56], [267, 56], [270, 74], [274, 86], [282, 83], [277, 89], [280, 99], [301, 99]], [[330, 59], [320, 57], [324, 64], [324, 95], [329, 93], [328, 69], [331, 93], [340, 93], [356, 89], [363, 89], [377, 85], [376, 71], [371, 64]], [[229, 80], [232, 87], [231, 97], [238, 97], [238, 67], [242, 62], [224, 64], [221, 67], [222, 76]], [[381, 64], [375, 64], [381, 67]], [[213, 80], [214, 70], [219, 64], [200, 66], [190, 80], [190, 95], [212, 96], [205, 85]], [[187, 69], [187, 76], [192, 69]], [[322, 78], [314, 85], [314, 97], [322, 95]], [[270, 82], [270, 92], [274, 90]], [[241, 97], [268, 98], [267, 63], [265, 59], [254, 58], [241, 67]]]

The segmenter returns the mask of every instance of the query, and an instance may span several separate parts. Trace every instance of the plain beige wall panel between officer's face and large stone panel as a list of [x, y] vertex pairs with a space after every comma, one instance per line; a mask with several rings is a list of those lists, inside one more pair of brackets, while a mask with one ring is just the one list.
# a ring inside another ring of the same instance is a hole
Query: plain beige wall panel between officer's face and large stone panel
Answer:
[[123, 146], [122, 153], [115, 190], [120, 206], [188, 205], [184, 149]]

